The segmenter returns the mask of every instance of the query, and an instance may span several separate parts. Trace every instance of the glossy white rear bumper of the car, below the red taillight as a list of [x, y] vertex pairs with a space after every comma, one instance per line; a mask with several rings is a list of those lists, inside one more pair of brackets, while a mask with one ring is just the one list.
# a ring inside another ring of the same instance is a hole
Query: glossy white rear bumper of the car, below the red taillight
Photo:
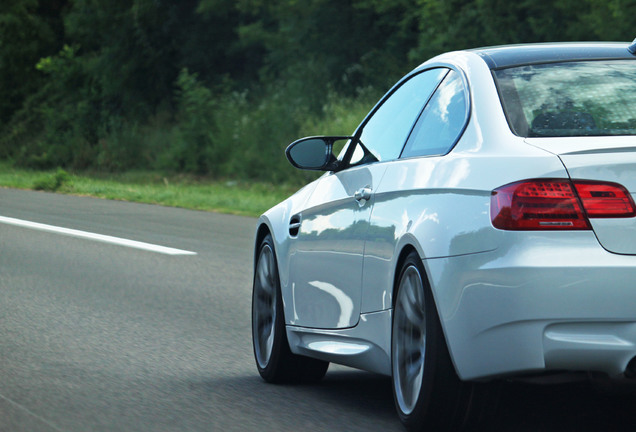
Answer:
[[423, 261], [459, 376], [620, 376], [636, 356], [636, 256], [590, 231], [505, 234], [492, 252]]

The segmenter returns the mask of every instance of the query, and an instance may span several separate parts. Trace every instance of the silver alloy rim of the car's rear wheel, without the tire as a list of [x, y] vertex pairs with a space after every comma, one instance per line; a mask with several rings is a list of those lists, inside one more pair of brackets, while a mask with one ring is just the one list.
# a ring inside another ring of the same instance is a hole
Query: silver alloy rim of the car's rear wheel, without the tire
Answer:
[[399, 409], [411, 414], [417, 404], [426, 351], [426, 300], [418, 269], [410, 265], [402, 274], [393, 317], [393, 387]]

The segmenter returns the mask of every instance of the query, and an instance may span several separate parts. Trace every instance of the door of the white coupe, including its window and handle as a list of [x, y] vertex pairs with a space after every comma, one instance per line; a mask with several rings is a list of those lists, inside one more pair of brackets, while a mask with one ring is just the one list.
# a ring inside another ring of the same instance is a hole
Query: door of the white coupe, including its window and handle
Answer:
[[288, 324], [338, 329], [358, 322], [374, 191], [386, 162], [400, 156], [424, 105], [447, 73], [432, 69], [398, 83], [341, 153], [346, 169], [319, 179], [304, 209], [292, 215]]

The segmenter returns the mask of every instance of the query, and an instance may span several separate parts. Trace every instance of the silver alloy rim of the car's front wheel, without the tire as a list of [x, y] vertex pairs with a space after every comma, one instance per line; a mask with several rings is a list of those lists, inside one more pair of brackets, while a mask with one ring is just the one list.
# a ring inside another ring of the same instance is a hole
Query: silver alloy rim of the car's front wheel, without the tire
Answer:
[[254, 352], [262, 369], [269, 364], [274, 347], [277, 301], [275, 266], [274, 251], [270, 245], [264, 244], [258, 256], [252, 305]]

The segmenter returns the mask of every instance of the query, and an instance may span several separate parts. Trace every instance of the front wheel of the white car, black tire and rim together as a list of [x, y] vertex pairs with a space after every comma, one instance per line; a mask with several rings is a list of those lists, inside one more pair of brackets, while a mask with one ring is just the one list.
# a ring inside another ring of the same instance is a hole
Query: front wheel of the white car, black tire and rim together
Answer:
[[267, 235], [261, 242], [252, 290], [252, 345], [261, 377], [270, 383], [320, 381], [329, 362], [293, 354], [285, 331], [274, 242]]

